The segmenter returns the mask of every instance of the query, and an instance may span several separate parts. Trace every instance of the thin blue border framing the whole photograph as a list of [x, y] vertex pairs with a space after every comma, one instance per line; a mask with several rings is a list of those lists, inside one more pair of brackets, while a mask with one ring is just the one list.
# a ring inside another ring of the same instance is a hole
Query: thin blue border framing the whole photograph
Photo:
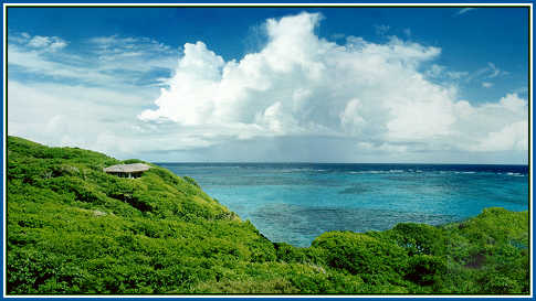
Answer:
[[[10, 3], [10, 4], [18, 4], [18, 3], [35, 3], [35, 4], [43, 4], [45, 3], [44, 1], [39, 1], [39, 0], [29, 0], [29, 1], [23, 1], [23, 0], [0, 0], [0, 2], [2, 3], [2, 10], [0, 12], [1, 14], [1, 19], [2, 19], [2, 36], [3, 36], [3, 30], [6, 30], [3, 26], [4, 26], [4, 15], [3, 15], [3, 3]], [[533, 6], [535, 4], [536, 0], [530, 0], [530, 1], [527, 1], [527, 0], [524, 0], [524, 1], [515, 1], [515, 2], [508, 2], [508, 1], [501, 1], [501, 0], [493, 0], [493, 1], [452, 1], [452, 0], [446, 0], [446, 1], [438, 1], [438, 0], [431, 0], [431, 1], [425, 1], [425, 0], [412, 0], [412, 1], [393, 1], [393, 0], [388, 0], [388, 1], [356, 1], [356, 0], [349, 0], [349, 1], [327, 1], [327, 0], [295, 0], [295, 1], [282, 1], [282, 0], [272, 0], [270, 2], [267, 1], [259, 1], [259, 0], [251, 0], [251, 1], [248, 1], [248, 0], [234, 0], [234, 1], [219, 1], [219, 0], [206, 0], [206, 1], [202, 1], [202, 0], [187, 0], [187, 1], [172, 1], [172, 0], [149, 0], [149, 1], [143, 1], [143, 0], [132, 0], [132, 1], [127, 1], [127, 0], [116, 0], [116, 1], [105, 1], [105, 0], [99, 0], [99, 1], [80, 1], [80, 0], [73, 0], [73, 1], [70, 1], [70, 0], [54, 0], [54, 1], [46, 1], [48, 3], [80, 3], [80, 4], [83, 4], [83, 3], [87, 3], [87, 4], [101, 4], [101, 3], [118, 3], [118, 4], [127, 4], [127, 3], [143, 3], [143, 4], [151, 4], [151, 3], [175, 3], [175, 4], [179, 4], [180, 3], [213, 3], [213, 4], [218, 4], [218, 3], [273, 3], [273, 4], [284, 4], [284, 3], [311, 3], [311, 4], [315, 4], [315, 3], [348, 3], [348, 4], [360, 4], [360, 3], [367, 3], [367, 4], [374, 4], [374, 3], [381, 3], [381, 4], [389, 4], [389, 3], [392, 3], [392, 4], [403, 4], [403, 3], [411, 3], [411, 4], [422, 4], [422, 6], [427, 6], [427, 4], [433, 4], [433, 3], [460, 3], [464, 7], [471, 7], [471, 3], [479, 3], [479, 4], [486, 4], [486, 3], [490, 3], [490, 4], [494, 4], [494, 3], [504, 3], [505, 6], [508, 6], [508, 4], [514, 4], [514, 3], [533, 3]], [[534, 8], [533, 7], [533, 13], [534, 13]], [[534, 18], [534, 17], [533, 17]], [[534, 43], [534, 40], [535, 40], [535, 33], [534, 33], [534, 20], [529, 20], [529, 22], [532, 22], [532, 37], [533, 37], [533, 43]], [[1, 64], [0, 66], [2, 67], [2, 83], [4, 83], [6, 78], [4, 78], [4, 74], [3, 74], [3, 64], [4, 64], [4, 57], [3, 57], [3, 44], [6, 43], [6, 41], [3, 40], [2, 37], [2, 53], [0, 54], [1, 56]], [[534, 50], [533, 50], [533, 55], [534, 55]], [[534, 63], [534, 60], [533, 62], [529, 62], [529, 64], [533, 64], [533, 71], [535, 69], [536, 67], [536, 64]], [[535, 84], [535, 80], [534, 78], [532, 77], [532, 74], [529, 74], [529, 77], [528, 77], [528, 80], [533, 82], [533, 85]], [[529, 84], [529, 83], [527, 83]], [[529, 86], [530, 87], [530, 86]], [[1, 92], [2, 92], [2, 95], [3, 95], [3, 84], [2, 86], [0, 87]], [[6, 92], [7, 93], [7, 92]], [[533, 94], [533, 90], [529, 88], [529, 96]], [[7, 98], [7, 97], [6, 97]], [[7, 99], [3, 99], [3, 101], [7, 101]], [[534, 103], [530, 103], [529, 106], [534, 106]], [[530, 108], [529, 107], [529, 119], [534, 119], [532, 114], [530, 114]], [[3, 118], [3, 106], [0, 108], [0, 112], [2, 114], [2, 118]], [[2, 123], [1, 123], [1, 130], [2, 130], [2, 136], [0, 137], [0, 143], [2, 144], [2, 153], [6, 155], [6, 152], [7, 152], [7, 149], [4, 147], [4, 140], [6, 140], [6, 137], [7, 137], [7, 132], [4, 132], [4, 127], [7, 127], [7, 120], [2, 120]], [[534, 150], [534, 147], [535, 147], [535, 143], [534, 143], [534, 139], [536, 138], [536, 136], [534, 135], [534, 132], [530, 132], [529, 131], [529, 136], [530, 136], [530, 148], [532, 150]], [[530, 158], [528, 160], [529, 164], [534, 168], [534, 162], [532, 162]], [[4, 181], [4, 160], [2, 159], [1, 162], [0, 162], [0, 168], [1, 168], [1, 181], [2, 181], [2, 186], [0, 186], [0, 192], [2, 193], [2, 197], [3, 197], [3, 181]], [[532, 174], [529, 174], [529, 176], [532, 176], [532, 181], [533, 181], [533, 186], [536, 186], [536, 179], [535, 176], [533, 176]], [[534, 200], [533, 200], [534, 201]], [[2, 203], [2, 207], [0, 207], [0, 212], [2, 213], [2, 217], [3, 215], [6, 214], [3, 212], [3, 203]], [[536, 229], [536, 221], [534, 219], [533, 216], [530, 216], [532, 218], [532, 223], [533, 223], [533, 229]], [[6, 237], [4, 237], [4, 228], [3, 228], [3, 223], [0, 225], [0, 228], [2, 230], [2, 240], [0, 241], [0, 246], [2, 248], [2, 265], [3, 265], [3, 247], [4, 247], [4, 241], [6, 241]], [[533, 233], [530, 234], [532, 236], [532, 239], [533, 239], [533, 244], [532, 244], [532, 247], [533, 247], [533, 272], [535, 272], [535, 267], [536, 265], [534, 264], [536, 260], [534, 259], [534, 247], [535, 247], [535, 235], [534, 235], [534, 230]], [[4, 282], [4, 279], [3, 279], [3, 270], [6, 269], [6, 267], [2, 266], [2, 273], [0, 275], [0, 279], [1, 279], [1, 284], [0, 284], [0, 299], [4, 299], [3, 298], [3, 282]], [[536, 293], [536, 283], [534, 281], [534, 275], [533, 275], [533, 294]], [[56, 298], [56, 297], [53, 297], [53, 298]], [[51, 298], [17, 298], [17, 297], [12, 297], [12, 298], [9, 298], [9, 300], [50, 300]], [[157, 298], [157, 297], [150, 297], [150, 298], [129, 298], [129, 297], [119, 297], [119, 298], [99, 298], [98, 295], [88, 295], [88, 297], [84, 297], [84, 298], [75, 298], [75, 297], [64, 297], [64, 298], [59, 298], [59, 300], [93, 300], [93, 299], [103, 299], [103, 300], [130, 300], [130, 301], [146, 301], [146, 300], [208, 300], [208, 301], [228, 301], [228, 300], [234, 300], [234, 299], [240, 299], [240, 300], [278, 300], [278, 301], [296, 301], [296, 300], [303, 300], [303, 301], [313, 301], [313, 300], [348, 300], [348, 299], [359, 299], [359, 300], [382, 300], [381, 295], [378, 295], [376, 298], [366, 298], [366, 297], [344, 297], [344, 295], [339, 295], [337, 298], [330, 298], [330, 297], [322, 297], [322, 298], [314, 298], [314, 297], [311, 297], [311, 298], [304, 298], [304, 297], [299, 297], [299, 298], [285, 298], [285, 297], [277, 297], [277, 295], [264, 295], [263, 298], [252, 298], [252, 297], [248, 297], [248, 295], [235, 295], [233, 298], [219, 298], [219, 297], [214, 297], [214, 298], [196, 298], [195, 295], [186, 295], [186, 298]], [[517, 297], [517, 298], [501, 298], [501, 297], [497, 297], [497, 298], [463, 298], [463, 297], [455, 297], [455, 295], [451, 295], [451, 297], [446, 297], [446, 298], [442, 298], [442, 297], [434, 297], [434, 298], [427, 298], [427, 297], [420, 297], [420, 298], [413, 298], [413, 297], [388, 297], [387, 298], [388, 300], [418, 300], [418, 301], [422, 301], [422, 300], [441, 300], [441, 301], [449, 301], [449, 300], [453, 300], [453, 299], [470, 299], [470, 300], [512, 300], [512, 301], [518, 301], [518, 300], [533, 300], [536, 298], [533, 297], [533, 298], [529, 298], [529, 297]]]

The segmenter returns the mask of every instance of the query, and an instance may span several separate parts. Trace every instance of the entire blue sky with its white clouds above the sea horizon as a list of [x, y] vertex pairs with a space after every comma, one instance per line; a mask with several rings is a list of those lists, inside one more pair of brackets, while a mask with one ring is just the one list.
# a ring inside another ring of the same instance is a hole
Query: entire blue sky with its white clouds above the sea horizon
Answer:
[[526, 8], [8, 8], [8, 135], [151, 162], [528, 162]]

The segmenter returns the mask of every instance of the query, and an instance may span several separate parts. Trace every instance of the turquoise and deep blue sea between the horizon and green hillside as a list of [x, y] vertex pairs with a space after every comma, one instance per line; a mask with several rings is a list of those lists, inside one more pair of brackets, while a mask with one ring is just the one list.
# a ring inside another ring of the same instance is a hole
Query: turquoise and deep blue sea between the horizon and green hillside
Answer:
[[528, 208], [528, 166], [158, 163], [188, 175], [272, 241], [309, 246], [328, 230], [445, 224], [485, 207]]

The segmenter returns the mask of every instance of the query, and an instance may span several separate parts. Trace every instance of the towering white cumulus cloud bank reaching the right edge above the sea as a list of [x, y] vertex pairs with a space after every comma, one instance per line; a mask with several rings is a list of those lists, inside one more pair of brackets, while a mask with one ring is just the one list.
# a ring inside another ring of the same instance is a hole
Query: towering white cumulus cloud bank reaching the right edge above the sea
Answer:
[[[203, 42], [185, 44], [169, 87], [139, 120], [155, 128], [175, 125], [182, 139], [196, 138], [200, 147], [343, 139], [355, 161], [360, 152], [528, 149], [526, 99], [460, 99], [455, 83], [432, 80], [449, 74], [433, 64], [441, 49], [396, 36], [386, 43], [348, 36], [337, 44], [315, 34], [320, 19], [301, 13], [267, 20], [265, 46], [240, 61], [225, 62]], [[501, 73], [492, 63], [485, 72]]]

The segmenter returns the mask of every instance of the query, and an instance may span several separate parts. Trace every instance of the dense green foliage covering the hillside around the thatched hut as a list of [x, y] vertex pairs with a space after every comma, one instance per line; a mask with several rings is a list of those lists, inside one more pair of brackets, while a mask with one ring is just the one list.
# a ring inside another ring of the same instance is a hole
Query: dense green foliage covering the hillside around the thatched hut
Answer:
[[103, 172], [117, 163], [8, 138], [9, 294], [528, 293], [527, 212], [332, 232], [296, 248], [193, 179], [153, 164], [139, 179]]

